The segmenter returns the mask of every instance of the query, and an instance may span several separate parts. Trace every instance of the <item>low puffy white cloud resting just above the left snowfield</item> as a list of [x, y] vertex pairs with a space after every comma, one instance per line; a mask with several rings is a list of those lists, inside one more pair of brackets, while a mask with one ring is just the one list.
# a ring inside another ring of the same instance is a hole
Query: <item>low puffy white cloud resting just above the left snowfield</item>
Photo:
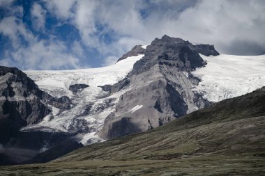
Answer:
[[0, 65], [20, 67], [22, 70], [58, 70], [79, 68], [79, 60], [68, 54], [61, 42], [40, 40], [28, 47], [20, 47], [0, 61]]

